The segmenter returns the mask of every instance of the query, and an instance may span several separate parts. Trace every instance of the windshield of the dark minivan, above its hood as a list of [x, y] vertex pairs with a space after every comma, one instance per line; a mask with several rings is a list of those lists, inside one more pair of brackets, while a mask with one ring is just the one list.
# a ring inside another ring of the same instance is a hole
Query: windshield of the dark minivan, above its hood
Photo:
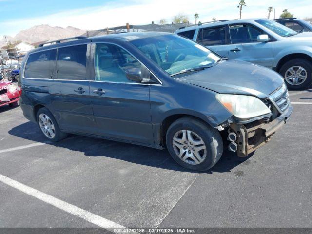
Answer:
[[170, 75], [210, 66], [220, 59], [206, 47], [172, 34], [130, 42]]

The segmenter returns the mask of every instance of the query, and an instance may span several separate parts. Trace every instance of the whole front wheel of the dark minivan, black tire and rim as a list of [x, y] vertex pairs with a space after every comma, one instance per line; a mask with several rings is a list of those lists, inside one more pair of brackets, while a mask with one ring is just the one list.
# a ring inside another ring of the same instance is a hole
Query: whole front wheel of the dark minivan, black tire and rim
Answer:
[[213, 167], [223, 152], [219, 132], [191, 117], [180, 118], [170, 125], [166, 144], [178, 164], [196, 171]]

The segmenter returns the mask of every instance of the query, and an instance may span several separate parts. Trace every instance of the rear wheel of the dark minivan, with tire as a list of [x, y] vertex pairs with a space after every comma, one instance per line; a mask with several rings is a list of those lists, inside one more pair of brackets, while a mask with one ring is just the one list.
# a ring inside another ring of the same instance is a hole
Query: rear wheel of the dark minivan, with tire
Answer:
[[43, 107], [37, 113], [37, 122], [41, 132], [50, 141], [59, 141], [67, 136], [59, 129], [59, 125], [51, 112]]

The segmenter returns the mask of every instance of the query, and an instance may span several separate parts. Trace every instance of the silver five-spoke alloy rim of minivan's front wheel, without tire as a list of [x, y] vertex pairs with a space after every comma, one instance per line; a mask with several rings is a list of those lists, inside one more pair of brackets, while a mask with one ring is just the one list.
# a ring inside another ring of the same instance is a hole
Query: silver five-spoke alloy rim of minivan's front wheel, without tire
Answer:
[[207, 155], [204, 141], [195, 132], [180, 130], [173, 137], [172, 144], [176, 155], [191, 165], [202, 163]]

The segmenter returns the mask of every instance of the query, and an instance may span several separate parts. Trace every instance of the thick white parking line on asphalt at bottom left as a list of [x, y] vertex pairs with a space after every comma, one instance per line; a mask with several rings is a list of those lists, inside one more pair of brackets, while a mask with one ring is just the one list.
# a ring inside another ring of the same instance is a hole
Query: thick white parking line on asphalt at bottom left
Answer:
[[34, 188], [31, 188], [27, 185], [24, 185], [14, 179], [11, 179], [9, 177], [3, 176], [0, 174], [0, 181], [7, 184], [8, 186], [11, 186], [15, 189], [20, 190], [21, 192], [31, 195], [33, 197], [36, 197], [37, 199], [44, 201], [52, 206], [55, 206], [63, 211], [66, 211], [72, 215], [76, 215], [90, 223], [93, 223], [95, 225], [98, 225], [101, 228], [105, 228], [109, 231], [114, 232], [114, 228], [125, 228], [113, 221], [110, 221], [106, 218], [103, 218], [101, 216], [95, 215], [91, 212], [85, 211], [77, 206], [74, 206], [72, 204], [69, 204], [65, 201], [62, 201], [54, 196], [45, 194], [40, 192], [39, 190], [36, 190]]

